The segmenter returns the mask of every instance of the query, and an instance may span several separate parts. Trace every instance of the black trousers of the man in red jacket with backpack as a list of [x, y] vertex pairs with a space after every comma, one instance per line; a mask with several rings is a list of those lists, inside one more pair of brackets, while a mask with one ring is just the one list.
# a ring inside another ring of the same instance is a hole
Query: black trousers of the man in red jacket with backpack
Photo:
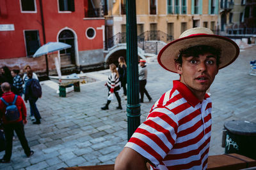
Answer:
[[13, 123], [13, 124], [4, 124], [3, 126], [4, 126], [4, 134], [5, 134], [5, 138], [6, 138], [6, 148], [5, 148], [5, 155], [4, 155], [3, 159], [10, 160], [12, 157], [13, 131], [16, 132], [16, 134], [20, 140], [20, 144], [21, 144], [22, 148], [24, 149], [25, 154], [29, 155], [31, 150], [28, 146], [28, 141], [25, 136], [23, 122], [20, 121], [20, 122]]

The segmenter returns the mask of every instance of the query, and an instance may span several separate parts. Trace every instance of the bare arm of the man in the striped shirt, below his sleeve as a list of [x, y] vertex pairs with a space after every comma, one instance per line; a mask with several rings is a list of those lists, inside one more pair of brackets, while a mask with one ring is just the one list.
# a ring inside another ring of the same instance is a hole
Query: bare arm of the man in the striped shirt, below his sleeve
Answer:
[[147, 169], [147, 159], [131, 148], [124, 148], [116, 157], [115, 170]]

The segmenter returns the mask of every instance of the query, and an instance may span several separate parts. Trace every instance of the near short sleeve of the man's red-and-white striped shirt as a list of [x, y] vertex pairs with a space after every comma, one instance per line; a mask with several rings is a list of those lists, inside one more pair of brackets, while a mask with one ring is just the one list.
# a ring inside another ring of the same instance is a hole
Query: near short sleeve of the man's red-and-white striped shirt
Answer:
[[125, 147], [132, 148], [158, 166], [173, 148], [178, 122], [172, 111], [156, 108], [132, 134]]

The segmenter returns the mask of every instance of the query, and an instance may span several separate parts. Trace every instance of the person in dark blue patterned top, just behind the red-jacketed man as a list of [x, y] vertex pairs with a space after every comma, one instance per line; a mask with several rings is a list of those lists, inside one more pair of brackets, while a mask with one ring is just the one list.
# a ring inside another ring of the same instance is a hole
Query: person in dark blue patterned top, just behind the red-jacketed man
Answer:
[[14, 94], [22, 96], [22, 94], [23, 94], [22, 85], [24, 84], [24, 81], [22, 80], [19, 73], [20, 73], [19, 69], [12, 70], [12, 76], [13, 76], [13, 90], [12, 91]]

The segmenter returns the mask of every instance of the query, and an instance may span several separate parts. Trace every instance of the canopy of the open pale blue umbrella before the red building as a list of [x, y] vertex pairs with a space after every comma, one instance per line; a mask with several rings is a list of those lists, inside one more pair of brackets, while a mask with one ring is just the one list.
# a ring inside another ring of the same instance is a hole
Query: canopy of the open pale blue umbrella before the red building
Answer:
[[56, 52], [58, 50], [64, 50], [64, 49], [67, 49], [70, 47], [71, 47], [71, 45], [68, 45], [66, 43], [49, 42], [43, 46], [40, 46], [40, 48], [38, 48], [38, 50], [36, 50], [36, 52], [34, 53], [33, 57], [39, 57], [39, 56], [45, 55], [47, 53]]

